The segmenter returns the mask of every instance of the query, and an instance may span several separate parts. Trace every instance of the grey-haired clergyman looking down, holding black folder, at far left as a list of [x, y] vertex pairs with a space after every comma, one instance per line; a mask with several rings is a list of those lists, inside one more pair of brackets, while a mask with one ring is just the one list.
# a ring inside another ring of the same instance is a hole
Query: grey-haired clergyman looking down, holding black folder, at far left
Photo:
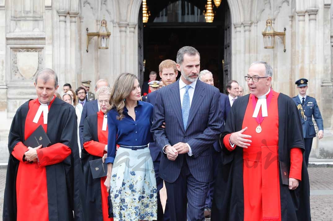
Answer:
[[[84, 221], [75, 109], [54, 96], [59, 85], [52, 69], [41, 70], [34, 84], [38, 98], [18, 108], [9, 132], [3, 220]], [[51, 144], [25, 146], [39, 125]]]

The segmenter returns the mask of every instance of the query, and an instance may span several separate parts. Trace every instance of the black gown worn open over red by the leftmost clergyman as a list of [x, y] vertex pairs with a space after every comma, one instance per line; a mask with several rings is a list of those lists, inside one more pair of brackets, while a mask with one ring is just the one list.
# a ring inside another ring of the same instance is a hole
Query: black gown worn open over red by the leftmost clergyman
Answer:
[[[9, 153], [24, 142], [29, 101], [18, 108], [8, 138]], [[72, 105], [55, 98], [48, 114], [47, 136], [52, 144], [62, 143], [71, 154], [61, 163], [46, 166], [49, 221], [85, 221], [83, 175], [77, 142], [77, 120]], [[47, 147], [46, 147], [47, 148]], [[4, 193], [3, 220], [16, 221], [16, 176], [19, 161], [10, 155]], [[29, 208], [27, 208], [29, 209]], [[33, 209], [33, 208], [31, 208]]]

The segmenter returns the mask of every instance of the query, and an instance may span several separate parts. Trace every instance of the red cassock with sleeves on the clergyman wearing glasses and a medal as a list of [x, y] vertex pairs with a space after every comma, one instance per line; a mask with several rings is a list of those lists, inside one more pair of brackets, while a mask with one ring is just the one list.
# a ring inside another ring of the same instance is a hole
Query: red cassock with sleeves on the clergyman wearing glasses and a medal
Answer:
[[[252, 117], [254, 112], [252, 94], [250, 95], [242, 128], [243, 133], [251, 135], [251, 146], [243, 149], [243, 186], [244, 186], [244, 221], [280, 221], [280, 176], [278, 165], [278, 105], [279, 93], [272, 91], [270, 102], [267, 99], [268, 116], [260, 124], [261, 133], [256, 132], [258, 123]], [[267, 95], [268, 97], [268, 95]], [[256, 101], [258, 100], [255, 98]], [[261, 115], [261, 108], [259, 111]], [[224, 137], [223, 143], [229, 151], [234, 149], [229, 144], [231, 134]], [[289, 177], [301, 180], [302, 151], [292, 148], [290, 151]]]

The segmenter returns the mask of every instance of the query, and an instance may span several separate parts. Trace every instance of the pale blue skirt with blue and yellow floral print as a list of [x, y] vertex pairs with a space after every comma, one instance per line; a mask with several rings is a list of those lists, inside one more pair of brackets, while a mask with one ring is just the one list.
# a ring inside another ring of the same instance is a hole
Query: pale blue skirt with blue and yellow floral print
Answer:
[[157, 220], [157, 188], [149, 148], [119, 148], [110, 195], [114, 221]]

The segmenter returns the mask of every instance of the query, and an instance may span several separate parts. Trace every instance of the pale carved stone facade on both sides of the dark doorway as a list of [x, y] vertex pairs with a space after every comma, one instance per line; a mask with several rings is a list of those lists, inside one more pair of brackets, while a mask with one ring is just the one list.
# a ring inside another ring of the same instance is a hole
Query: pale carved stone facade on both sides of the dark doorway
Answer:
[[[308, 94], [316, 98], [325, 131], [331, 133], [331, 1], [227, 1], [232, 78], [246, 86], [243, 76], [255, 60], [272, 65], [273, 89], [289, 96], [297, 94], [295, 80], [308, 78]], [[76, 88], [82, 79], [94, 85], [100, 78], [112, 85], [122, 72], [138, 75], [143, 65], [138, 61], [140, 7], [141, 0], [0, 0], [1, 116], [12, 118], [23, 102], [36, 97], [33, 79], [44, 67], [58, 73], [61, 87], [69, 82]], [[103, 17], [111, 32], [109, 49], [99, 50], [95, 37], [87, 53], [86, 29], [98, 31]], [[276, 31], [286, 28], [286, 52], [278, 38], [274, 49], [264, 49], [261, 32], [268, 17]]]

